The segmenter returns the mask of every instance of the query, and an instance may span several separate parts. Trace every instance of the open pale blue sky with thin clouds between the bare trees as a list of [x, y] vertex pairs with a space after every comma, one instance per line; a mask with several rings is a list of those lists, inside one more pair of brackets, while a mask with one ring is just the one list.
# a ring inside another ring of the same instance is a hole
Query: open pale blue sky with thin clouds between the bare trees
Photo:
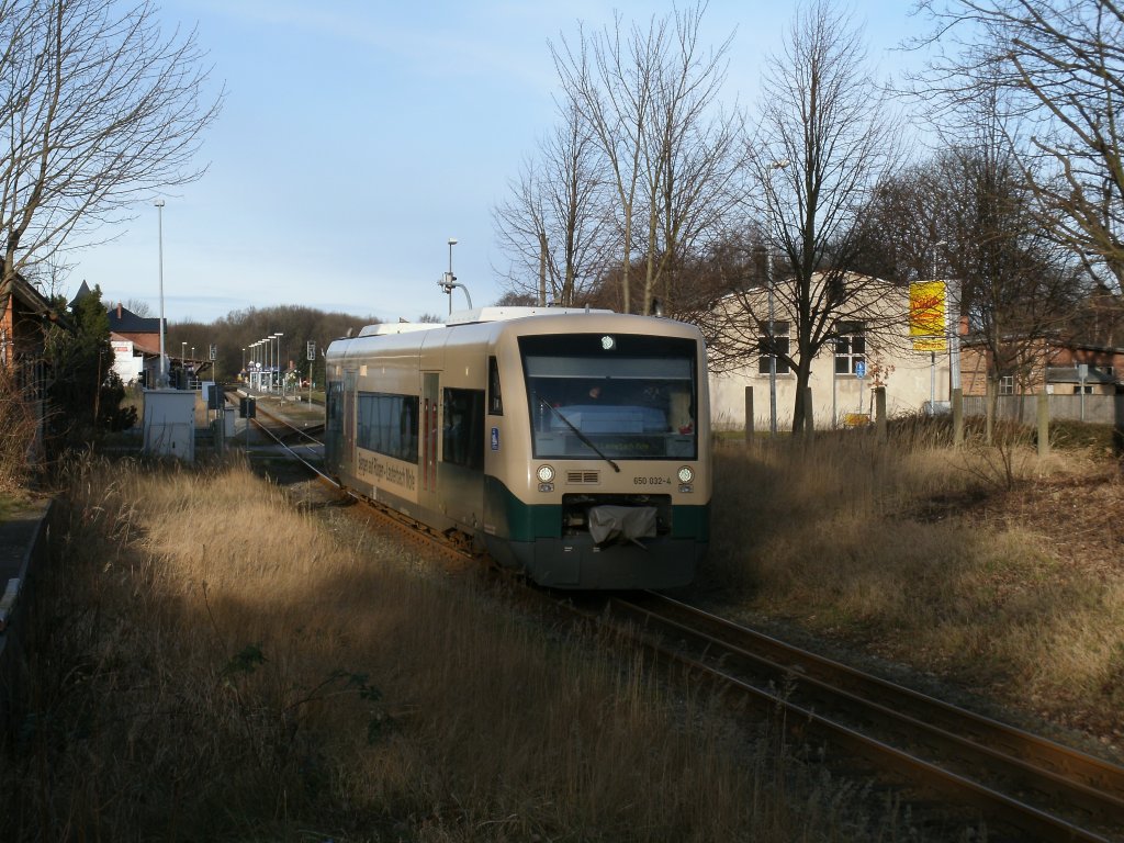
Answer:
[[[865, 25], [870, 56], [922, 21], [900, 0], [844, 8]], [[206, 175], [165, 194], [164, 312], [214, 321], [234, 310], [305, 305], [395, 321], [444, 316], [448, 268], [477, 307], [501, 293], [491, 209], [554, 123], [549, 42], [610, 24], [646, 28], [671, 2], [541, 0], [165, 0], [161, 19], [198, 30], [226, 89], [200, 153]], [[723, 101], [752, 105], [796, 3], [713, 0], [705, 35], [732, 31]], [[157, 212], [140, 205], [110, 243], [70, 255], [64, 284], [100, 284], [103, 300], [160, 312]], [[464, 306], [461, 290], [453, 307]]]

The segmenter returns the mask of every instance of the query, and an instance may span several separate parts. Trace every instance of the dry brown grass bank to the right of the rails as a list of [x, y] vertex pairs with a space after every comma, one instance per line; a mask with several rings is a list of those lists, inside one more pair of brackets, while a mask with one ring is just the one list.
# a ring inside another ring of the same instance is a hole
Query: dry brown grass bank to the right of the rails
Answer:
[[719, 445], [724, 598], [1124, 747], [1118, 457], [868, 433]]

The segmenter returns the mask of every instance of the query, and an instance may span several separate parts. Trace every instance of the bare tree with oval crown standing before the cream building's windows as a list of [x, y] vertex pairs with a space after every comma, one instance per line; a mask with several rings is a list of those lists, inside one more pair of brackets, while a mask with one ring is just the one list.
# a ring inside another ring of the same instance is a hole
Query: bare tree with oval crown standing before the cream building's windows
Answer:
[[[861, 323], [877, 334], [889, 327], [865, 310], [886, 282], [849, 272], [861, 243], [861, 209], [898, 152], [886, 97], [864, 65], [860, 34], [844, 16], [826, 0], [801, 7], [785, 53], [770, 58], [747, 146], [761, 185], [754, 211], [769, 252], [767, 277], [779, 283], [769, 284], [769, 296], [760, 288], [737, 291], [735, 312], [750, 318], [729, 325], [726, 342], [740, 343], [745, 356], [771, 351], [788, 363], [797, 387], [794, 430], [810, 413], [805, 395], [819, 351], [841, 328], [852, 333]], [[759, 337], [769, 336], [776, 320], [790, 326], [788, 351], [771, 339], [771, 348], [761, 347]]]

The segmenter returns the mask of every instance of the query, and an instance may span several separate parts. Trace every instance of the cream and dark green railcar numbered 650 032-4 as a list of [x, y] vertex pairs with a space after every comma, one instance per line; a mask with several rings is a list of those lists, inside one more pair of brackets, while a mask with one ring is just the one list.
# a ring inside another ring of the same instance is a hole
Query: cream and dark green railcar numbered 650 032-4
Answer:
[[709, 544], [706, 346], [662, 317], [489, 307], [325, 352], [350, 492], [555, 589], [669, 589]]

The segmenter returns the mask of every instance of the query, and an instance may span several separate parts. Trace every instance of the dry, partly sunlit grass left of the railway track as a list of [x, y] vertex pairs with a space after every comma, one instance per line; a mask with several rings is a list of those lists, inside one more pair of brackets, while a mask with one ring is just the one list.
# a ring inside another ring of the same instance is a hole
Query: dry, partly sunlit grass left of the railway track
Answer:
[[843, 836], [783, 750], [641, 656], [435, 584], [245, 468], [87, 465], [66, 498], [6, 841]]

